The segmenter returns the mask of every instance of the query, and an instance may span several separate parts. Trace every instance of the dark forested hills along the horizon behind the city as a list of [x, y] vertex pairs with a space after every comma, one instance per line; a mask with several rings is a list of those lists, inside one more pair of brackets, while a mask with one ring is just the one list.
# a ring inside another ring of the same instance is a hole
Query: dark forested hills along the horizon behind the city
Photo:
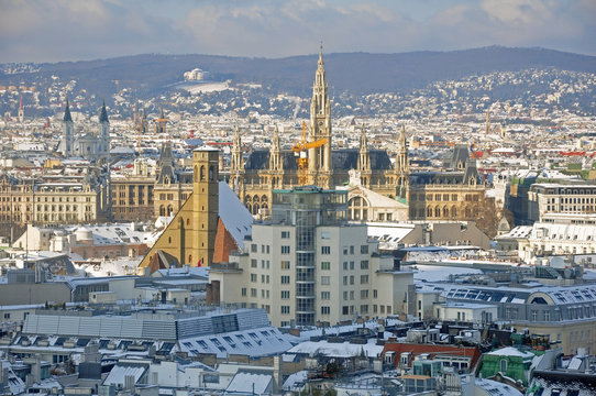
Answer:
[[[596, 57], [543, 48], [492, 46], [452, 52], [401, 54], [324, 54], [325, 69], [334, 92], [354, 95], [409, 91], [428, 84], [492, 72], [516, 72], [554, 67], [596, 73]], [[194, 68], [210, 73], [216, 81], [256, 82], [293, 95], [308, 95], [317, 67], [317, 55], [286, 58], [243, 58], [213, 55], [135, 55], [88, 62], [36, 65], [37, 72], [0, 74], [1, 85], [29, 85], [52, 75], [77, 80], [81, 88], [102, 95], [132, 88], [140, 97], [156, 95], [180, 82]], [[3, 65], [2, 69], [7, 69]]]

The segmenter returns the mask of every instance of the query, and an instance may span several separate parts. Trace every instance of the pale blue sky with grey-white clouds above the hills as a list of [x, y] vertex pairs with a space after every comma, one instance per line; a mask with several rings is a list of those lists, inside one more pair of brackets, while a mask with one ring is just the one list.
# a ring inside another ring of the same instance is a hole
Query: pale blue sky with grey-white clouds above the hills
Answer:
[[0, 0], [0, 63], [541, 46], [596, 55], [596, 0]]

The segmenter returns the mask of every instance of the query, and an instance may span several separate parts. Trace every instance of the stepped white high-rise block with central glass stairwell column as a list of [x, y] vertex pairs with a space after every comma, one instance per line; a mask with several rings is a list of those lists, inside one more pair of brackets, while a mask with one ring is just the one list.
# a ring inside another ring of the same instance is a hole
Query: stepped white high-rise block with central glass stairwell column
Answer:
[[412, 273], [394, 270], [366, 226], [345, 221], [346, 204], [345, 190], [274, 190], [272, 221], [211, 268], [222, 302], [264, 308], [278, 327], [406, 312]]

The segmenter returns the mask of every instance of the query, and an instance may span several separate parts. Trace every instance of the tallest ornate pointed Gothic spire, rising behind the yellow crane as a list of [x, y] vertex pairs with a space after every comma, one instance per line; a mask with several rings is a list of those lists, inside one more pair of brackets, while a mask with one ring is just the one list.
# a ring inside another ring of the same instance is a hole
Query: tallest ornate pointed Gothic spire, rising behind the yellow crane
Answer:
[[310, 148], [308, 152], [309, 184], [322, 188], [331, 188], [331, 107], [329, 105], [329, 87], [325, 79], [322, 45], [319, 52], [319, 63], [312, 86], [309, 131], [309, 140], [311, 142], [320, 139], [327, 139], [327, 143], [319, 147]]

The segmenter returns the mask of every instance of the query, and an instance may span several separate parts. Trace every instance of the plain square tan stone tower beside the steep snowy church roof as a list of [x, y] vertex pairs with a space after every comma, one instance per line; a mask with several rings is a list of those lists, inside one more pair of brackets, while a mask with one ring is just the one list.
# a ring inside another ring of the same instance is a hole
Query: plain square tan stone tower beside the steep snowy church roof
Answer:
[[192, 230], [199, 265], [213, 260], [219, 213], [219, 150], [199, 147], [192, 153]]

